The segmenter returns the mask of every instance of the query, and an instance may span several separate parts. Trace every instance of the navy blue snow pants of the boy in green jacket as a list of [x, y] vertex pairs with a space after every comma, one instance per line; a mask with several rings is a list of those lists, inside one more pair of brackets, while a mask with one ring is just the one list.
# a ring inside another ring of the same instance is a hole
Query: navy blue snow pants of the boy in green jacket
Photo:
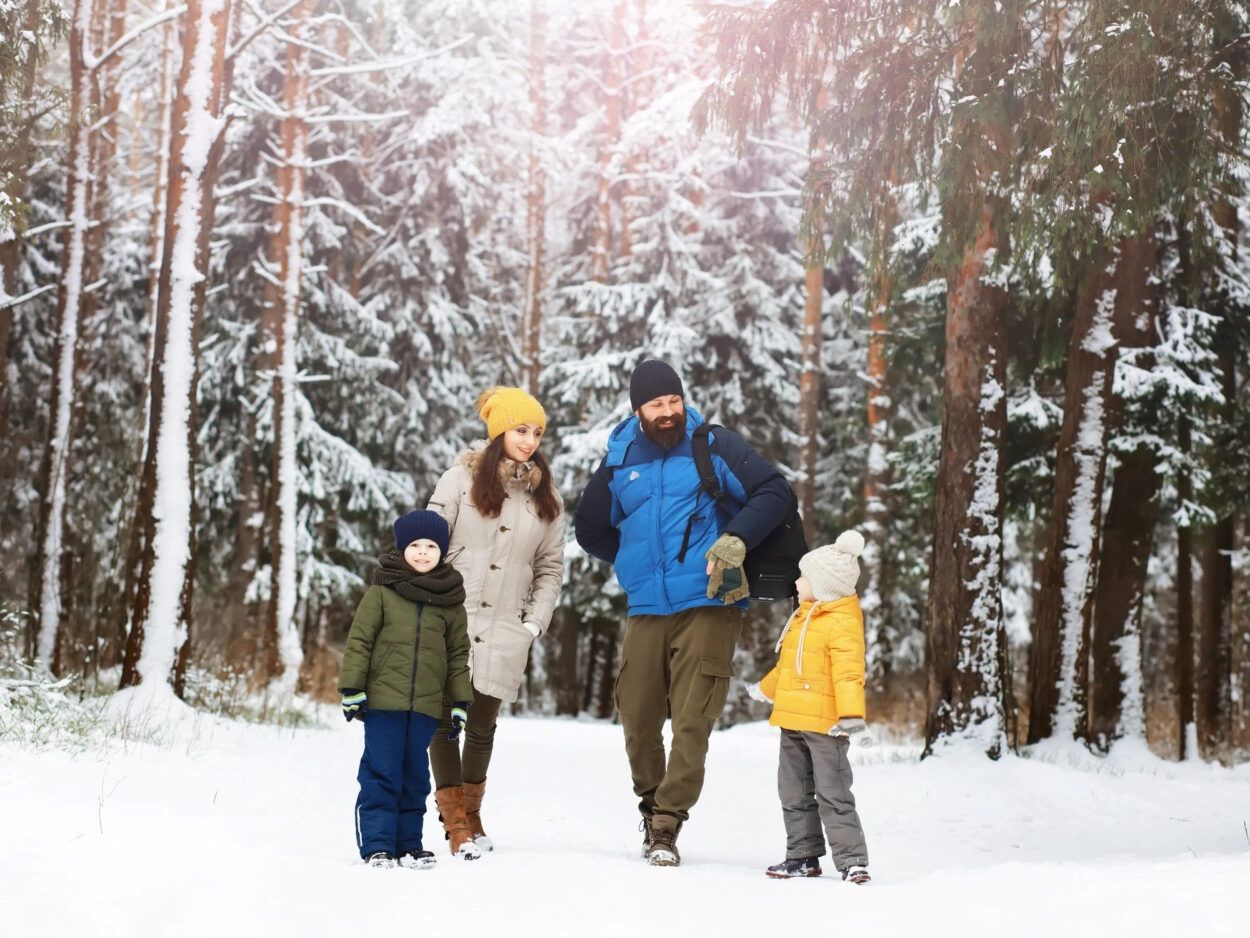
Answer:
[[369, 710], [360, 757], [356, 847], [360, 857], [385, 850], [399, 857], [421, 849], [425, 799], [430, 797], [426, 750], [439, 722], [410, 710]]

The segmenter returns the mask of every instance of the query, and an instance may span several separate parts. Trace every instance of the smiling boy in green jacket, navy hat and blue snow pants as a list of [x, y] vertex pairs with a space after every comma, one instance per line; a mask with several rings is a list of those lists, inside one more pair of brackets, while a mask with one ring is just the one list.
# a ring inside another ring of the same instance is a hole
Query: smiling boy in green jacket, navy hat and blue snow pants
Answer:
[[[444, 562], [451, 532], [436, 512], [395, 522], [395, 550], [378, 559], [348, 633], [339, 692], [342, 715], [365, 723], [356, 847], [370, 867], [429, 869], [421, 849], [430, 795], [426, 750], [442, 713], [454, 733], [472, 699], [464, 579]], [[471, 859], [471, 858], [470, 858]]]

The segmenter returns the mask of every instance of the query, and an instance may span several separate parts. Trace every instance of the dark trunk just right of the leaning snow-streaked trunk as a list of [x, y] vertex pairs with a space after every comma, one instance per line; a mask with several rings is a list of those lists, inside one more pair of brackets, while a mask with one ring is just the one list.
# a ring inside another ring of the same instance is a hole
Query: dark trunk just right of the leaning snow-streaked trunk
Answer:
[[[1121, 246], [1116, 268], [1116, 338], [1120, 348], [1155, 341], [1159, 315], [1158, 243], [1154, 233]], [[1109, 423], [1122, 425], [1124, 406], [1112, 399]], [[1088, 739], [1108, 749], [1121, 737], [1145, 739], [1141, 674], [1141, 599], [1159, 520], [1158, 458], [1145, 446], [1120, 456], [1102, 522], [1090, 638]]]

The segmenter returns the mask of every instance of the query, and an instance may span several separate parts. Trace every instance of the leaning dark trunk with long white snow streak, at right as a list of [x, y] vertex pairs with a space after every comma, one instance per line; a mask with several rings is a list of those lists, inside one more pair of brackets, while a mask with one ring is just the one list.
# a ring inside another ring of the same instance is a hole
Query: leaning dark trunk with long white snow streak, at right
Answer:
[[1029, 734], [1085, 737], [1090, 614], [1099, 558], [1108, 408], [1115, 374], [1118, 256], [1095, 250], [1076, 291], [1068, 344], [1064, 419], [1055, 459], [1050, 537], [1038, 595]]

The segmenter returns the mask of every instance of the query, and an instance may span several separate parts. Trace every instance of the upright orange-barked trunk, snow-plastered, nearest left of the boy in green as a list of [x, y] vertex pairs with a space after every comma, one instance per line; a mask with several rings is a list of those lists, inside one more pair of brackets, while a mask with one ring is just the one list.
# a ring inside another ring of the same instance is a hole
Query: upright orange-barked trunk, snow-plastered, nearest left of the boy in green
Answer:
[[270, 532], [276, 543], [270, 550], [272, 579], [265, 625], [265, 677], [280, 700], [295, 694], [304, 649], [295, 622], [296, 602], [296, 490], [299, 465], [295, 441], [296, 344], [300, 308], [300, 278], [304, 251], [304, 180], [308, 124], [309, 50], [299, 41], [308, 18], [309, 0], [291, 11], [286, 46], [286, 81], [281, 121], [282, 165], [278, 170], [281, 200], [274, 206], [272, 261], [278, 265], [278, 286], [270, 304], [279, 308], [272, 346], [278, 356], [274, 371], [274, 487]]

